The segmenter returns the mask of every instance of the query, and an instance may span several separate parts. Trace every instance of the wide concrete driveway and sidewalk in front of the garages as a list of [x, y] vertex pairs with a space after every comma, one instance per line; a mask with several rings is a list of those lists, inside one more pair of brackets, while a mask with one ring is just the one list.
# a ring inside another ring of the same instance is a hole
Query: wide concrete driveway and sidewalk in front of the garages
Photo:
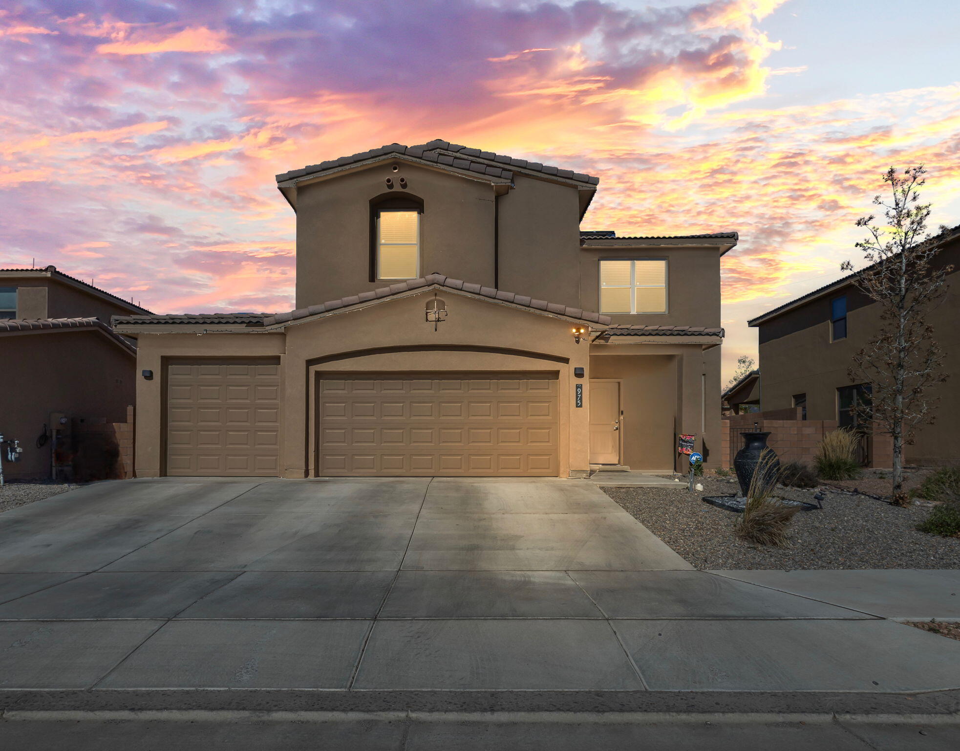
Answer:
[[100, 483], [0, 515], [0, 572], [0, 690], [960, 684], [960, 643], [693, 570], [588, 481]]

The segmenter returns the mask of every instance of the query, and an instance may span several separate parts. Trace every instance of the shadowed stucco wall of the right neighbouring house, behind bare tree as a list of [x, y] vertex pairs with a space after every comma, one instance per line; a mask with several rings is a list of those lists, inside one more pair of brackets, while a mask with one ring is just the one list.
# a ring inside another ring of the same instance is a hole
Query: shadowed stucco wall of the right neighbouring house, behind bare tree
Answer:
[[[929, 316], [937, 343], [945, 353], [946, 384], [931, 389], [940, 401], [935, 424], [917, 431], [914, 446], [905, 449], [908, 462], [917, 464], [956, 464], [960, 462], [960, 294], [957, 274], [950, 275], [950, 289], [944, 303]], [[842, 294], [838, 292], [837, 294]], [[760, 408], [764, 411], [793, 405], [795, 394], [806, 394], [809, 420], [837, 419], [837, 389], [852, 384], [847, 370], [852, 356], [862, 349], [879, 325], [875, 304], [848, 313], [848, 336], [830, 342], [828, 321], [763, 342], [759, 346]]]

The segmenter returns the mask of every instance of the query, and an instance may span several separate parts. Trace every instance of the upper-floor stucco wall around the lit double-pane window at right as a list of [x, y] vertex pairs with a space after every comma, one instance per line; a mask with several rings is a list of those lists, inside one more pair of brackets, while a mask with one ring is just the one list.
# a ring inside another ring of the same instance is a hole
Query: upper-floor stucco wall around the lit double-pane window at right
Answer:
[[720, 250], [718, 248], [583, 248], [580, 295], [585, 310], [600, 310], [600, 260], [666, 259], [667, 312], [611, 316], [632, 326], [720, 326]]

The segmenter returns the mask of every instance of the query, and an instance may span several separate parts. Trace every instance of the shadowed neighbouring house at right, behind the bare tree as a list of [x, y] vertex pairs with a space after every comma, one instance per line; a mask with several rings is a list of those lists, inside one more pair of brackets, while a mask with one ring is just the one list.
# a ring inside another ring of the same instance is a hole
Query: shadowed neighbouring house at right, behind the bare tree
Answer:
[[[960, 226], [946, 230], [928, 242], [940, 246], [936, 263], [952, 265], [948, 292], [930, 314], [934, 338], [945, 353], [948, 383], [930, 391], [938, 396], [936, 423], [918, 429], [916, 443], [905, 448], [911, 464], [954, 464], [960, 456]], [[877, 303], [854, 285], [856, 275], [838, 279], [803, 297], [758, 316], [749, 324], [759, 333], [759, 366], [763, 373], [764, 411], [803, 407], [804, 419], [835, 420], [841, 427], [855, 427], [852, 409], [856, 400], [869, 398], [871, 384], [852, 383], [848, 369], [852, 356], [863, 349], [880, 324]], [[876, 440], [875, 440], [876, 443]], [[865, 451], [871, 447], [867, 445]], [[889, 450], [884, 448], [884, 450]], [[862, 457], [865, 462], [871, 456]]]

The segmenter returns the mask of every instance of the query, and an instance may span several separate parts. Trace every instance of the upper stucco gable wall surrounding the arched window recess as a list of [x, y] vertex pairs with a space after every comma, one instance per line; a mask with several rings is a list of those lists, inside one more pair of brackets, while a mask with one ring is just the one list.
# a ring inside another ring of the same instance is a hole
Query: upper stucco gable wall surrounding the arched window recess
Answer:
[[[397, 172], [392, 169], [395, 163]], [[401, 177], [407, 180], [406, 189], [398, 186]], [[387, 178], [394, 181], [393, 190]], [[492, 183], [388, 160], [298, 189], [297, 307], [391, 283], [370, 279], [370, 202], [384, 193], [423, 201], [420, 276], [437, 272], [493, 284]]]

